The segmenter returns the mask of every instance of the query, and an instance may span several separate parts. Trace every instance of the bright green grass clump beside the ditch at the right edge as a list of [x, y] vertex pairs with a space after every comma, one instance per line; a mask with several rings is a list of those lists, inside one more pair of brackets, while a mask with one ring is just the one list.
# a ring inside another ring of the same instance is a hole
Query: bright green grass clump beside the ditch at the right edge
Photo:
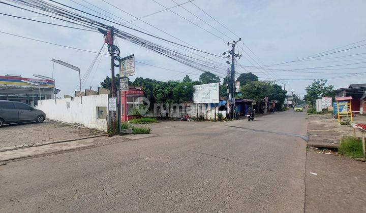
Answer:
[[362, 158], [362, 141], [354, 137], [344, 137], [338, 153], [350, 158]]

